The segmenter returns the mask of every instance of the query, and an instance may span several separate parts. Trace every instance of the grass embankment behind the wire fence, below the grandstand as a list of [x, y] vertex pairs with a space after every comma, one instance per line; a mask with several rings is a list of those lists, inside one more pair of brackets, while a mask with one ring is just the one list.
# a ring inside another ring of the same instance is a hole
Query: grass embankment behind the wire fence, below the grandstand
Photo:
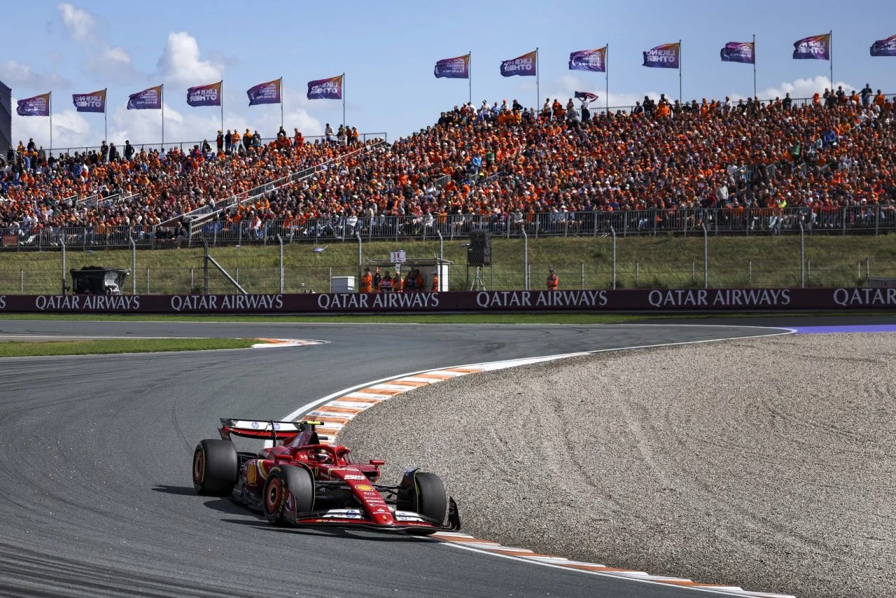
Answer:
[[[451, 290], [469, 290], [475, 271], [466, 268], [466, 239], [444, 241], [444, 257], [453, 262]], [[324, 247], [314, 252], [314, 247]], [[405, 249], [409, 258], [434, 257], [438, 241], [377, 241], [364, 243], [368, 258], [383, 259]], [[793, 287], [800, 284], [798, 236], [710, 237], [711, 287]], [[278, 292], [279, 249], [276, 246], [212, 247], [214, 257], [248, 291]], [[556, 268], [561, 289], [609, 288], [612, 285], [613, 243], [609, 237], [529, 239], [530, 285], [543, 289], [548, 268]], [[896, 238], [874, 236], [806, 236], [806, 286], [855, 286], [868, 275], [896, 276]], [[480, 273], [487, 290], [521, 289], [524, 284], [523, 240], [493, 238], [492, 265]], [[69, 251], [67, 269], [84, 265], [131, 268], [130, 250], [97, 248], [91, 253]], [[358, 273], [358, 244], [353, 241], [293, 243], [284, 247], [284, 290], [326, 292], [330, 276]], [[125, 282], [131, 292], [202, 292], [202, 249], [159, 249], [137, 252], [136, 272]], [[0, 294], [50, 294], [62, 287], [59, 252], [0, 253]], [[628, 237], [616, 241], [616, 288], [692, 288], [703, 286], [703, 239], [697, 237]], [[480, 287], [481, 288], [481, 287]], [[210, 292], [235, 292], [213, 267]]]

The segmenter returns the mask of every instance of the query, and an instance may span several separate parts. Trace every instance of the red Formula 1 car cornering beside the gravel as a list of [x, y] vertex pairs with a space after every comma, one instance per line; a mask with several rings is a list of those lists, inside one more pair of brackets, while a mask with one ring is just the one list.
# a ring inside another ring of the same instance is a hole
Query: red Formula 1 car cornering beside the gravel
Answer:
[[[317, 425], [222, 418], [221, 439], [196, 446], [196, 491], [230, 496], [262, 511], [271, 524], [366, 527], [412, 535], [461, 528], [457, 505], [453, 498], [446, 500], [435, 473], [414, 469], [396, 486], [378, 483], [385, 461], [352, 463], [345, 446], [321, 443], [328, 438], [318, 436]], [[240, 452], [232, 436], [270, 440], [273, 446], [257, 454]]]

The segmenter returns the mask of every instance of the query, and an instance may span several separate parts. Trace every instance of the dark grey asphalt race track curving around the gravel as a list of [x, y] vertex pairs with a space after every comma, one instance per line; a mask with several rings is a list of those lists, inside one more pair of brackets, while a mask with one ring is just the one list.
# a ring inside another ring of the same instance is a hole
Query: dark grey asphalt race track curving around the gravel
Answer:
[[[228, 499], [194, 493], [194, 446], [216, 438], [219, 417], [280, 419], [326, 394], [411, 371], [773, 332], [714, 325], [0, 321], [0, 335], [327, 342], [0, 360], [0, 594], [693, 598], [693, 590], [424, 539], [274, 528]], [[462, 517], [463, 498], [458, 502]]]

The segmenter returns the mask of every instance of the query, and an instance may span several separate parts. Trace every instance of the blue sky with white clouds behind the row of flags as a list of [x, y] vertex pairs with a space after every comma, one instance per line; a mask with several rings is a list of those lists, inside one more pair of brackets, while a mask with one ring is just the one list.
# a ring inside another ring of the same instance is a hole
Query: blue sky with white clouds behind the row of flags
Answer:
[[[679, 8], [680, 7], [680, 8]], [[573, 91], [605, 97], [603, 74], [567, 70], [573, 50], [609, 44], [610, 105], [645, 94], [678, 95], [675, 70], [641, 66], [641, 52], [682, 39], [685, 99], [748, 96], [750, 65], [722, 63], [719, 48], [756, 35], [759, 95], [799, 97], [829, 82], [826, 61], [793, 60], [793, 42], [833, 30], [834, 81], [857, 89], [896, 91], [896, 58], [872, 58], [875, 39], [896, 33], [892, 2], [805, 3], [510, 3], [232, 2], [14, 3], [4, 7], [0, 80], [21, 99], [54, 91], [54, 146], [97, 144], [102, 115], [77, 114], [71, 94], [108, 87], [108, 138], [158, 143], [159, 113], [128, 111], [127, 95], [165, 83], [166, 141], [213, 138], [218, 108], [189, 108], [189, 85], [224, 80], [225, 128], [257, 128], [271, 136], [280, 107], [249, 108], [246, 89], [280, 76], [287, 130], [319, 134], [342, 120], [338, 100], [305, 99], [306, 82], [346, 73], [347, 120], [390, 139], [435, 122], [467, 100], [464, 80], [435, 79], [439, 58], [472, 51], [474, 103], [514, 98], [536, 104], [534, 77], [504, 78], [501, 60], [539, 48], [540, 99]], [[881, 18], [885, 17], [885, 18]], [[13, 139], [49, 145], [46, 118], [13, 117]]]

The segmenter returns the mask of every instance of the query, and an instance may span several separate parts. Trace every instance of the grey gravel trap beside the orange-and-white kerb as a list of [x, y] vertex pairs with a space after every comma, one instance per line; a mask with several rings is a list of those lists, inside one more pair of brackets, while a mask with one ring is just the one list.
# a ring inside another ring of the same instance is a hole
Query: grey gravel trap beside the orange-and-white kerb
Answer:
[[779, 336], [478, 374], [382, 403], [339, 439], [437, 472], [465, 531], [505, 545], [801, 598], [894, 595], [894, 340]]

